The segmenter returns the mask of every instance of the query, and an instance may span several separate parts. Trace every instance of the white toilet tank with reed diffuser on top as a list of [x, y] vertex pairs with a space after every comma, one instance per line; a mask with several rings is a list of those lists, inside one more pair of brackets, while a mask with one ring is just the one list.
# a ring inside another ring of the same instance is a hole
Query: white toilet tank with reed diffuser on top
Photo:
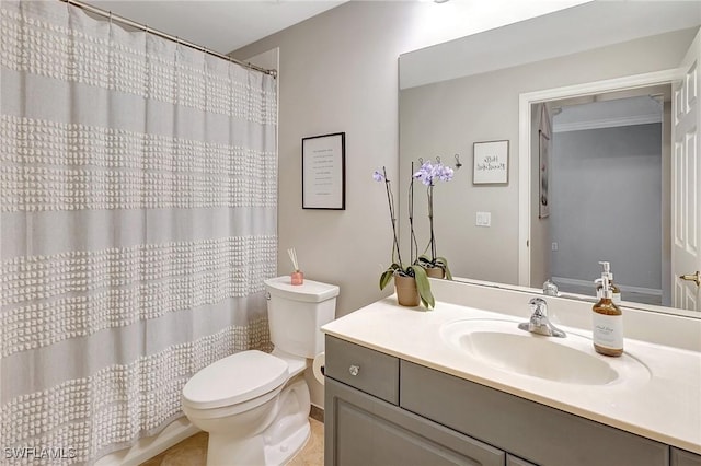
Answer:
[[265, 280], [267, 318], [275, 348], [313, 358], [324, 350], [321, 326], [333, 321], [338, 287], [304, 280], [292, 286], [289, 276]]

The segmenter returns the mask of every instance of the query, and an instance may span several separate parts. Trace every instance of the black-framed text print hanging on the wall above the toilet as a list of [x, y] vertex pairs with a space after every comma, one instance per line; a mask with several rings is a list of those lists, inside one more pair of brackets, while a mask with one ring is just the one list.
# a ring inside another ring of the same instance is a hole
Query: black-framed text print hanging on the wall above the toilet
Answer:
[[346, 133], [302, 138], [302, 208], [345, 210]]

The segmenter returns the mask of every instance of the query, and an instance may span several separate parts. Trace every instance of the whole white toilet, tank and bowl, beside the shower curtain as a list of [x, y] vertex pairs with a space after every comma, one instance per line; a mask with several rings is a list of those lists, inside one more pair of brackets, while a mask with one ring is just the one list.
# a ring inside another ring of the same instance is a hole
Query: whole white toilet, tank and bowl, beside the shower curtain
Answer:
[[281, 465], [307, 442], [303, 372], [324, 350], [320, 327], [334, 318], [338, 287], [290, 277], [265, 281], [273, 353], [250, 350], [197, 372], [183, 388], [185, 416], [209, 432], [208, 466]]

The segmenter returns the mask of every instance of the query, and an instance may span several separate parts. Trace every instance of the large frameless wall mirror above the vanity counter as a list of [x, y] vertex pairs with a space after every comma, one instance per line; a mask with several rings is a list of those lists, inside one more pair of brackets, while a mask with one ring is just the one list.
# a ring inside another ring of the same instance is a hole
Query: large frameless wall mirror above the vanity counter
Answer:
[[[401, 224], [412, 171], [439, 159], [453, 276], [594, 300], [607, 260], [625, 305], [701, 316], [679, 278], [701, 269], [701, 155], [678, 112], [697, 118], [700, 24], [699, 1], [590, 2], [400, 56]], [[475, 183], [475, 144], [503, 140], [507, 182]], [[420, 241], [426, 198], [415, 184]]]

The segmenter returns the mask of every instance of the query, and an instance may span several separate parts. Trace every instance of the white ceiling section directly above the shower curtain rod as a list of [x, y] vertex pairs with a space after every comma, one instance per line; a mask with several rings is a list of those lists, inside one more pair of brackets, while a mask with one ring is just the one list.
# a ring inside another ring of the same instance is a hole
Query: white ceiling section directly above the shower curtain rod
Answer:
[[83, 0], [219, 54], [241, 48], [346, 0]]

